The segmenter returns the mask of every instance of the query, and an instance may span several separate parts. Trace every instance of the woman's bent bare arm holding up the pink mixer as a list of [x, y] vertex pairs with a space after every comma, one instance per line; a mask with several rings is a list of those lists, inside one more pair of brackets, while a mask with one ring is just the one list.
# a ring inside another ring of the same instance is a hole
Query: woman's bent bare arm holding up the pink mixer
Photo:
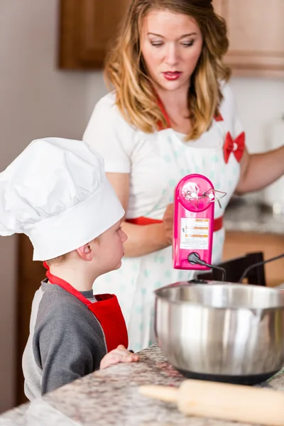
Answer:
[[[107, 173], [107, 178], [126, 211], [129, 203], [129, 173]], [[128, 236], [124, 243], [125, 255], [127, 257], [143, 256], [170, 246], [167, 224], [168, 221], [141, 226], [123, 222], [122, 228]]]

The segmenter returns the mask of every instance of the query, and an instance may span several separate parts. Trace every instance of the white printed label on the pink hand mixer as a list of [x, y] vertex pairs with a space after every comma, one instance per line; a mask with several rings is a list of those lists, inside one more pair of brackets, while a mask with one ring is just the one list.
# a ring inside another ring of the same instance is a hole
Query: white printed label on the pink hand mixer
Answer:
[[180, 219], [180, 249], [208, 250], [209, 219], [182, 217]]

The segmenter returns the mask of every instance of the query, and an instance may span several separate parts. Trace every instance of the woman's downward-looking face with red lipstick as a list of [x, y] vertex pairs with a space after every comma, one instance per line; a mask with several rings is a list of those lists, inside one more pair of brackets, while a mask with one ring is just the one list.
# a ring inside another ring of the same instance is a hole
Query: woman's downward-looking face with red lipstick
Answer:
[[149, 75], [161, 89], [188, 89], [202, 43], [200, 28], [190, 16], [153, 10], [143, 20], [142, 55]]

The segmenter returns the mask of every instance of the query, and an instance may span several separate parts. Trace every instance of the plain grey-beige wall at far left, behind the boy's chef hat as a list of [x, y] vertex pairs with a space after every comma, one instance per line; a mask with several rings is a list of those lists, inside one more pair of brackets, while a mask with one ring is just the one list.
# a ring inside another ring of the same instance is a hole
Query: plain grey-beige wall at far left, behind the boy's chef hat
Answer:
[[[56, 69], [57, 30], [57, 0], [0, 1], [0, 170], [34, 138], [82, 137], [87, 74]], [[0, 412], [13, 406], [15, 292], [15, 240], [0, 237]]]

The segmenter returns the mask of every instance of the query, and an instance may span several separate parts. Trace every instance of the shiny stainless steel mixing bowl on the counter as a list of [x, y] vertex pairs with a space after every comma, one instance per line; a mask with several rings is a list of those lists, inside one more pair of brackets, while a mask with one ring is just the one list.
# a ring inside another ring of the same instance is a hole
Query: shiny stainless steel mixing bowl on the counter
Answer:
[[187, 377], [255, 384], [284, 365], [284, 292], [177, 283], [155, 291], [155, 334]]

